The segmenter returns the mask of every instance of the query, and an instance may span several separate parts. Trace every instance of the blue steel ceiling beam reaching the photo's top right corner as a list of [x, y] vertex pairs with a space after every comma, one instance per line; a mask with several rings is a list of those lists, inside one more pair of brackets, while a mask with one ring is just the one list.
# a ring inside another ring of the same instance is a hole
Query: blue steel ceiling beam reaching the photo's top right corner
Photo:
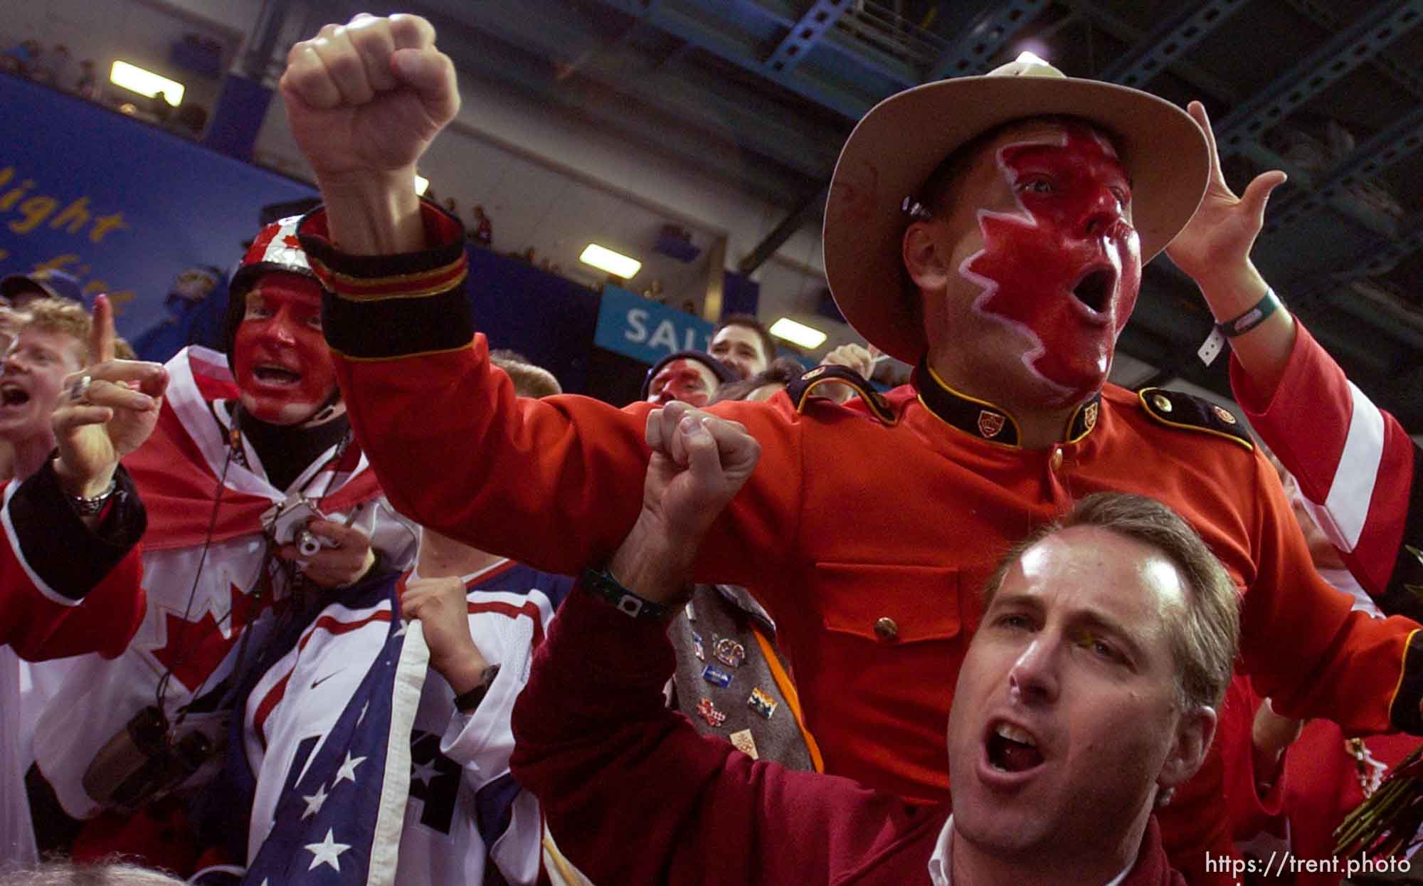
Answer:
[[1215, 127], [1221, 154], [1235, 154], [1248, 142], [1257, 141], [1299, 105], [1373, 58], [1419, 21], [1423, 21], [1423, 0], [1385, 3], [1370, 10], [1222, 120]]

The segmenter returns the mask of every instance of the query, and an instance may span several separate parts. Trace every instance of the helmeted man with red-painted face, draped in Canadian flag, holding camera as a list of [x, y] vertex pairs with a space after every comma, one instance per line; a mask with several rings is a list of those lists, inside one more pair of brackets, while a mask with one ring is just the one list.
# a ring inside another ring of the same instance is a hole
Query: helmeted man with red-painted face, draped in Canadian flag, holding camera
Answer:
[[[262, 661], [268, 630], [414, 554], [351, 439], [296, 224], [253, 241], [231, 283], [228, 353], [191, 346], [168, 362], [158, 429], [127, 460], [149, 509], [148, 614], [118, 660], [81, 661], [40, 715], [28, 782], [41, 849], [65, 848], [74, 819], [139, 811], [215, 773], [233, 675]], [[314, 510], [277, 538], [273, 511], [300, 501]], [[316, 553], [293, 543], [300, 528]], [[188, 763], [162, 771], [124, 741], [134, 724], [155, 724], [159, 751]], [[105, 816], [80, 846], [181, 866], [131, 836], [138, 820]]]

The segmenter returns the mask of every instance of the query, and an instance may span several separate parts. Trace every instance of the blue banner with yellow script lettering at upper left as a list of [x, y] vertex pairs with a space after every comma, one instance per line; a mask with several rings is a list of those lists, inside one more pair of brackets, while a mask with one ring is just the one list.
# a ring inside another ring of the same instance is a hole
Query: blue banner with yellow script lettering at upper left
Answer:
[[[266, 204], [310, 185], [97, 104], [0, 75], [0, 275], [58, 268], [108, 292], [127, 338], [161, 322], [174, 276], [242, 258]], [[225, 293], [218, 293], [225, 296]]]

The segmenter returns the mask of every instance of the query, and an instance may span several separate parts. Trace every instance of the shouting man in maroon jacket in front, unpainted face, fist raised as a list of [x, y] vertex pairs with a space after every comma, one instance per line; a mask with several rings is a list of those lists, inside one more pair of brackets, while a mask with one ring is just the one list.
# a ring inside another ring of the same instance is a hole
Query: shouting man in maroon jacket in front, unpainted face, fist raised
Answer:
[[592, 882], [1184, 882], [1151, 813], [1204, 762], [1238, 642], [1235, 585], [1184, 520], [1090, 496], [1003, 558], [958, 674], [951, 815], [753, 762], [660, 709], [666, 618], [758, 446], [714, 417], [649, 429], [635, 528], [583, 574], [514, 712], [515, 776]]

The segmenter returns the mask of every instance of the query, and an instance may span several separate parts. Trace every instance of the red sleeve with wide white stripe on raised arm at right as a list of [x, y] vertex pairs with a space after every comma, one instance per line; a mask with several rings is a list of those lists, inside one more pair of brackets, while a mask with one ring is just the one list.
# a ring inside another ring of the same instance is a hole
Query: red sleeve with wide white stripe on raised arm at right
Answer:
[[1405, 578], [1399, 567], [1417, 564], [1402, 546], [1423, 548], [1423, 489], [1414, 489], [1419, 447], [1345, 377], [1303, 325], [1296, 333], [1274, 397], [1262, 397], [1239, 360], [1231, 359], [1235, 396], [1299, 481], [1315, 521], [1349, 571], [1389, 604], [1385, 611], [1419, 618], [1423, 605], [1399, 587]]

